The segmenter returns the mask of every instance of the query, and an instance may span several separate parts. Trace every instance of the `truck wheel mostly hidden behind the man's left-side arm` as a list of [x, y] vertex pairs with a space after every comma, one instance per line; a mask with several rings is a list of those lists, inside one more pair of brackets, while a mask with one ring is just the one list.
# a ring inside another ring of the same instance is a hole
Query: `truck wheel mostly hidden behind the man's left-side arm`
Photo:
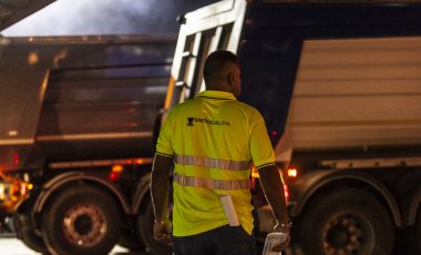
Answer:
[[154, 239], [154, 210], [152, 207], [151, 195], [146, 195], [142, 203], [142, 210], [137, 217], [137, 230], [141, 234], [143, 243], [146, 245], [146, 249], [155, 255], [166, 255], [173, 253], [173, 247], [165, 244], [161, 244]]

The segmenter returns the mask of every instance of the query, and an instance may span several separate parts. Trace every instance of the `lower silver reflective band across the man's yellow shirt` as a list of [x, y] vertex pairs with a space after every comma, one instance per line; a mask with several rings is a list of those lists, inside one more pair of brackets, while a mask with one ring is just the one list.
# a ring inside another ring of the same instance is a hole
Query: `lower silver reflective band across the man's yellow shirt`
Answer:
[[248, 178], [225, 181], [185, 176], [176, 173], [174, 173], [174, 182], [178, 183], [182, 186], [207, 187], [210, 190], [224, 191], [249, 190], [251, 187], [250, 181]]

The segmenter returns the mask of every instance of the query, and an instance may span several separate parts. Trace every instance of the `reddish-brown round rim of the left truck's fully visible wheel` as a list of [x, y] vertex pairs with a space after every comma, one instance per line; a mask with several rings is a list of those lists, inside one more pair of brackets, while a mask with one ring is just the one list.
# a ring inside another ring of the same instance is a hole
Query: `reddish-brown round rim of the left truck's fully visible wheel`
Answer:
[[93, 204], [74, 205], [64, 215], [64, 236], [78, 247], [89, 248], [100, 243], [106, 227], [105, 215]]

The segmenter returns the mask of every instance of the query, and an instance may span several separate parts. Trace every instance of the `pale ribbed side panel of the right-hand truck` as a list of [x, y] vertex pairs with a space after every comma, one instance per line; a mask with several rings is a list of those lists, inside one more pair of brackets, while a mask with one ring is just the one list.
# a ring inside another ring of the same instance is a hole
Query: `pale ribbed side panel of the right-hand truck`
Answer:
[[286, 135], [294, 150], [421, 143], [421, 38], [304, 44]]

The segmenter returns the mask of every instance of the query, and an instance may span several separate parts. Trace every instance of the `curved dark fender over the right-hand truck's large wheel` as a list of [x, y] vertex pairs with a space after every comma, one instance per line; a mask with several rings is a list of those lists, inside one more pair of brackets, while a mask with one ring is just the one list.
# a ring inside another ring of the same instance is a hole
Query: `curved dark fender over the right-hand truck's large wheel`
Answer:
[[297, 180], [297, 183], [290, 186], [295, 194], [295, 202], [290, 211], [291, 216], [299, 216], [310, 201], [310, 198], [321, 188], [340, 182], [362, 183], [371, 187], [382, 196], [393, 216], [393, 222], [397, 226], [402, 226], [402, 215], [399, 211], [397, 201], [393, 198], [390, 191], [379, 181], [362, 172], [347, 171], [315, 171]]

